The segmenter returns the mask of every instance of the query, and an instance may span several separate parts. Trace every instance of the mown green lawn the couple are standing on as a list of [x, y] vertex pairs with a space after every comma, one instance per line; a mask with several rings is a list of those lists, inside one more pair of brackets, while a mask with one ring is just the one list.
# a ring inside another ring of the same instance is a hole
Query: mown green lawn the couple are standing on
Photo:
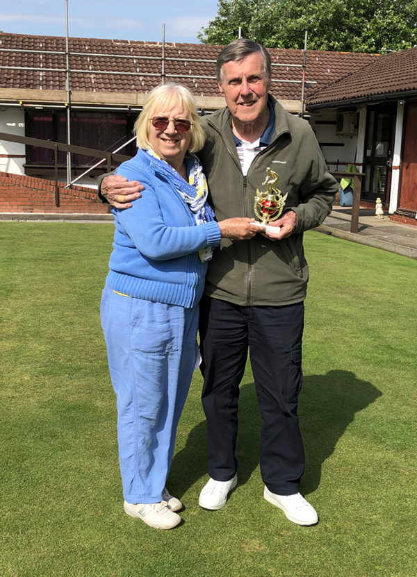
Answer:
[[16, 577], [417, 575], [417, 262], [305, 238], [302, 528], [263, 500], [252, 374], [242, 385], [239, 485], [218, 512], [206, 482], [199, 374], [168, 487], [183, 524], [123, 512], [115, 396], [99, 324], [111, 224], [0, 223], [0, 574]]

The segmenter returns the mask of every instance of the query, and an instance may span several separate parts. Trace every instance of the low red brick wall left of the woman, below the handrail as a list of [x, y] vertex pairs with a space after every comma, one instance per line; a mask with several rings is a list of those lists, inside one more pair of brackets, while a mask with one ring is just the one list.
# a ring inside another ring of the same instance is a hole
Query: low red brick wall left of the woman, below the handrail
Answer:
[[107, 214], [97, 192], [83, 186], [59, 185], [60, 205], [55, 206], [55, 182], [0, 172], [0, 212]]

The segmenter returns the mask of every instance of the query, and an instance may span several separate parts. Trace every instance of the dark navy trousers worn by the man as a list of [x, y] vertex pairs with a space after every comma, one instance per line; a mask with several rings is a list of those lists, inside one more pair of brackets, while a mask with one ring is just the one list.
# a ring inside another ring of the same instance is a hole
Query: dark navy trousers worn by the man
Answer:
[[245, 307], [203, 296], [199, 335], [211, 478], [226, 481], [236, 474], [239, 385], [249, 350], [263, 419], [263, 482], [276, 494], [299, 491], [305, 463], [297, 417], [303, 328], [304, 303]]

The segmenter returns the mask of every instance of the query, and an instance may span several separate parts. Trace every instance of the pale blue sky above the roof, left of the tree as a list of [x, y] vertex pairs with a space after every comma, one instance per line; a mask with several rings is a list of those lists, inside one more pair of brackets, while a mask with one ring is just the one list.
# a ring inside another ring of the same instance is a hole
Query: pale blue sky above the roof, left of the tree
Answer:
[[[197, 32], [217, 13], [218, 0], [68, 0], [69, 35], [81, 38], [198, 42]], [[65, 0], [0, 3], [0, 30], [65, 36]]]

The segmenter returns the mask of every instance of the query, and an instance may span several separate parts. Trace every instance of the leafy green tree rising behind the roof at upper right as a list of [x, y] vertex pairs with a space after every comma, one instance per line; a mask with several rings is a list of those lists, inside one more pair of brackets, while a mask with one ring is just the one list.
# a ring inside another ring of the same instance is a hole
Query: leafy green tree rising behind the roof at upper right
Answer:
[[417, 45], [417, 0], [219, 0], [198, 34], [204, 44], [242, 36], [270, 48], [398, 51]]

